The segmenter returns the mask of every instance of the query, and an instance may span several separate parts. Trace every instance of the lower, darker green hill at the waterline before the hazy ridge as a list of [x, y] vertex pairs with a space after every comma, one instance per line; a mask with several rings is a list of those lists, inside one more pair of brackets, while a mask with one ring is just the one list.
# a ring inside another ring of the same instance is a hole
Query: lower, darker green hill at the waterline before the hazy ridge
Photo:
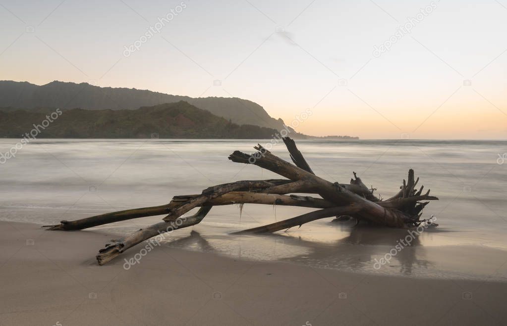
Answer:
[[234, 124], [185, 101], [136, 110], [0, 110], [0, 137], [5, 138], [267, 139], [276, 132]]

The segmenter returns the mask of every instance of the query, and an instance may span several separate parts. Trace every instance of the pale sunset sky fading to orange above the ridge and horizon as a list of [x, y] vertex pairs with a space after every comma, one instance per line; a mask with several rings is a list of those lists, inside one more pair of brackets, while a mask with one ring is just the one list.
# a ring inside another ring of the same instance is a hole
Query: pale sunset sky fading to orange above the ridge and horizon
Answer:
[[507, 0], [1, 1], [0, 79], [239, 97], [298, 132], [507, 139]]

